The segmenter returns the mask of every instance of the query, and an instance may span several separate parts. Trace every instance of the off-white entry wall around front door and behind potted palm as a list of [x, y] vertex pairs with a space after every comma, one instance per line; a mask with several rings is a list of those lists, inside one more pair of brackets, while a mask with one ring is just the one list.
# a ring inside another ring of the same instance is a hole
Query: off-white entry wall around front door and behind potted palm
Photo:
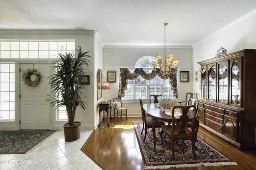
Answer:
[[[100, 42], [96, 40], [94, 43], [95, 38], [94, 34], [96, 31], [82, 31], [82, 30], [0, 30], [0, 39], [24, 39], [24, 40], [38, 40], [38, 39], [74, 39], [75, 40], [75, 47], [78, 45], [81, 46], [84, 52], [89, 51], [88, 55], [90, 55], [90, 65], [86, 66], [86, 73], [90, 75], [90, 84], [84, 85], [86, 86], [86, 94], [87, 98], [85, 98], [85, 102], [88, 103], [88, 107], [86, 110], [82, 110], [78, 108], [76, 110], [76, 121], [81, 122], [81, 129], [95, 129], [97, 126], [97, 98], [95, 92], [95, 83], [96, 82], [96, 70], [102, 67], [102, 63], [95, 64], [94, 60], [96, 59], [96, 63], [100, 63], [98, 61], [102, 60], [102, 47]], [[94, 47], [96, 46], [96, 47]], [[34, 59], [33, 59], [34, 60]], [[15, 62], [17, 59], [0, 59], [0, 62], [3, 61], [12, 61]], [[97, 67], [96, 67], [97, 65]], [[16, 74], [19, 76], [20, 74]], [[19, 106], [19, 86], [16, 83], [16, 106]], [[51, 121], [50, 126], [51, 129], [61, 129], [63, 130], [63, 125], [66, 122], [63, 121], [56, 121], [54, 108], [52, 107], [51, 110]], [[15, 122], [1, 122], [0, 123], [0, 130], [19, 130], [19, 117], [20, 117], [20, 110], [19, 107], [16, 107], [15, 113]], [[99, 121], [99, 120], [98, 120]], [[7, 128], [7, 129], [6, 129]]]

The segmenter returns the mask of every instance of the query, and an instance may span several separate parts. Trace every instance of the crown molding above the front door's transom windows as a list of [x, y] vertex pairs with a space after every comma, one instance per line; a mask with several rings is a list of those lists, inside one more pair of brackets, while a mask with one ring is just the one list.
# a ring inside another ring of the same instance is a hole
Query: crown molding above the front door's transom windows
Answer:
[[95, 35], [94, 30], [0, 29], [0, 35]]

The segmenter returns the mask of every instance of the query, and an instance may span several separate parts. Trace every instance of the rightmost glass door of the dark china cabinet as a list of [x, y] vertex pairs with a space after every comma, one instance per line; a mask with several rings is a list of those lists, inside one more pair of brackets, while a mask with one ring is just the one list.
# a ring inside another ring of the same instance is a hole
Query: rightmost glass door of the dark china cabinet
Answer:
[[230, 60], [230, 104], [240, 106], [241, 58]]

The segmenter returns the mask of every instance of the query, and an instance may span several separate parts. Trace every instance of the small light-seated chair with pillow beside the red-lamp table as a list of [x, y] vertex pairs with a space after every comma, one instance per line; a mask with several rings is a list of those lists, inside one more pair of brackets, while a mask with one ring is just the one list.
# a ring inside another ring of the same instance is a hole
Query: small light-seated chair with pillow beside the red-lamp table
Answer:
[[112, 106], [114, 107], [114, 118], [116, 117], [117, 121], [118, 115], [120, 115], [120, 117], [122, 117], [122, 115], [125, 115], [127, 120], [127, 108], [122, 107], [122, 100], [120, 97], [113, 98]]

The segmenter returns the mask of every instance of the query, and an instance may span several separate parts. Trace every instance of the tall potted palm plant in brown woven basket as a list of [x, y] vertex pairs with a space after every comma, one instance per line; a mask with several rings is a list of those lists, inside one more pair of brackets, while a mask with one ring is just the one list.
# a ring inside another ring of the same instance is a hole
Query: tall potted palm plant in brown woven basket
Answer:
[[52, 92], [54, 93], [54, 101], [52, 106], [58, 109], [66, 106], [68, 114], [68, 123], [64, 125], [65, 141], [76, 141], [80, 138], [80, 122], [75, 121], [76, 108], [86, 109], [87, 103], [84, 90], [81, 84], [82, 76], [86, 74], [84, 67], [90, 63], [88, 52], [83, 52], [78, 46], [76, 52], [58, 54], [59, 59], [54, 62], [55, 74], [48, 77]]

